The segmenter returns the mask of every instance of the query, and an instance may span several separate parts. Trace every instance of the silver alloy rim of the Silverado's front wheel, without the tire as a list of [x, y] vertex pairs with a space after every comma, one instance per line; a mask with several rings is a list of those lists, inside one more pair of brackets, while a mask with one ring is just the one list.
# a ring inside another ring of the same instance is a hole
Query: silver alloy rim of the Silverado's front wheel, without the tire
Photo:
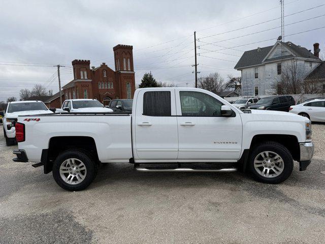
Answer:
[[273, 151], [263, 151], [254, 159], [256, 172], [266, 178], [279, 176], [283, 169], [283, 159]]

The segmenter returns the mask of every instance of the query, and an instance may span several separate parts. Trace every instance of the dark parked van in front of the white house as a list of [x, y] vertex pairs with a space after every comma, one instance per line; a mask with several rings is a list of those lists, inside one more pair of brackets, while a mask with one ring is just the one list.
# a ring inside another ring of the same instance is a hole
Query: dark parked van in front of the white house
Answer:
[[296, 105], [296, 102], [292, 96], [272, 96], [258, 100], [255, 105], [248, 107], [248, 109], [277, 110], [288, 112], [289, 107], [293, 105]]

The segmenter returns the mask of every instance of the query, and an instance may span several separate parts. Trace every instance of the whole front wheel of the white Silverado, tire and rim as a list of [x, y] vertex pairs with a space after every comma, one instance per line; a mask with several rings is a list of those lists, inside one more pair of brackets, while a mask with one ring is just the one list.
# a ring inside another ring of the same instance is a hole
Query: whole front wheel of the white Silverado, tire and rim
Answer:
[[269, 184], [286, 180], [294, 169], [289, 150], [277, 142], [264, 142], [250, 154], [249, 171], [253, 178]]

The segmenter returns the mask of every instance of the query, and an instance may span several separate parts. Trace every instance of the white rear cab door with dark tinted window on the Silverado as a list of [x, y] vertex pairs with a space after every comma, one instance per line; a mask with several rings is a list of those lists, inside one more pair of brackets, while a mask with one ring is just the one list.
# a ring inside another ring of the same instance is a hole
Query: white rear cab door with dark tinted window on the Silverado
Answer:
[[178, 133], [174, 89], [143, 89], [135, 105], [133, 146], [137, 159], [176, 160]]

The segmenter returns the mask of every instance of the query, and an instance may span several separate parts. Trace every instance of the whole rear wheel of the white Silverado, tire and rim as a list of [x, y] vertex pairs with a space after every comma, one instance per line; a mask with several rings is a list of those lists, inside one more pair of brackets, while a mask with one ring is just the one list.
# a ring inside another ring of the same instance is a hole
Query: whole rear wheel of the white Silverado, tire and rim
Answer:
[[97, 174], [97, 166], [84, 152], [67, 150], [61, 153], [53, 164], [56, 183], [68, 191], [86, 189]]

